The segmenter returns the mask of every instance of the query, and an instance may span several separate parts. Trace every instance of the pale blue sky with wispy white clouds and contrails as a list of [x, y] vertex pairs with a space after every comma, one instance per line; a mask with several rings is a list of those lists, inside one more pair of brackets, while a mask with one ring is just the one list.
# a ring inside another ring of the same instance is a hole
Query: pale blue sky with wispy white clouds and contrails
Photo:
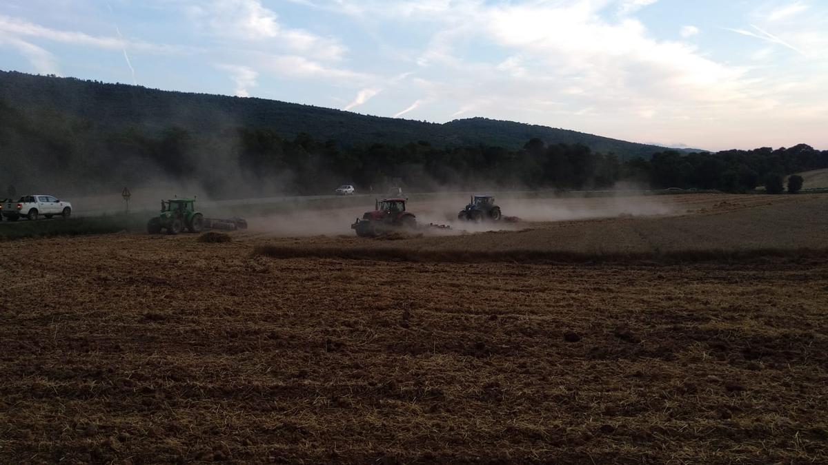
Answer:
[[828, 149], [828, 0], [3, 0], [0, 70]]

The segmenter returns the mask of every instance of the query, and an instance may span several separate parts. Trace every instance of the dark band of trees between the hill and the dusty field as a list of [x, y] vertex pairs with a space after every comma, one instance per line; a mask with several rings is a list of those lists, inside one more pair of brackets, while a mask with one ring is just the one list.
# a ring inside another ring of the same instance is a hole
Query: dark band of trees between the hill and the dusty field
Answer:
[[542, 137], [527, 137], [517, 147], [426, 139], [343, 143], [324, 133], [286, 136], [279, 127], [255, 124], [228, 122], [215, 131], [140, 119], [113, 124], [102, 115], [122, 108], [97, 108], [98, 117], [91, 118], [47, 105], [50, 101], [24, 109], [0, 98], [2, 185], [82, 194], [164, 180], [195, 185], [221, 198], [330, 193], [340, 184], [360, 190], [403, 185], [429, 191], [606, 189], [625, 182], [655, 189], [745, 192], [758, 185], [780, 185], [783, 175], [828, 168], [828, 151], [804, 144], [715, 154], [657, 147], [646, 156], [623, 157]]

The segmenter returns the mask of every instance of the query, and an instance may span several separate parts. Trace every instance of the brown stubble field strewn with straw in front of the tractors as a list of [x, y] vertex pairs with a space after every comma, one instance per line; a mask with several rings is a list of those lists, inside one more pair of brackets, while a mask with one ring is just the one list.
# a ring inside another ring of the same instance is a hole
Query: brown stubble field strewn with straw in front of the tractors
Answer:
[[828, 462], [828, 196], [658, 203], [0, 243], [0, 463]]

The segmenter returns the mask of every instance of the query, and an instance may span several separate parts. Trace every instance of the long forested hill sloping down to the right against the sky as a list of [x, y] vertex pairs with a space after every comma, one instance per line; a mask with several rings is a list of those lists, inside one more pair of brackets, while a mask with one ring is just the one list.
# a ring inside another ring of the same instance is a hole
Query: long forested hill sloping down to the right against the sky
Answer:
[[108, 131], [140, 126], [142, 132], [152, 134], [179, 127], [197, 135], [247, 127], [268, 129], [291, 139], [304, 132], [317, 141], [334, 140], [345, 147], [427, 141], [436, 147], [486, 145], [509, 150], [519, 149], [537, 137], [546, 144], [582, 144], [592, 151], [612, 152], [621, 160], [649, 158], [664, 150], [583, 132], [480, 117], [438, 124], [262, 98], [169, 92], [14, 71], [0, 71], [0, 100], [34, 119], [44, 111], [60, 112]]

